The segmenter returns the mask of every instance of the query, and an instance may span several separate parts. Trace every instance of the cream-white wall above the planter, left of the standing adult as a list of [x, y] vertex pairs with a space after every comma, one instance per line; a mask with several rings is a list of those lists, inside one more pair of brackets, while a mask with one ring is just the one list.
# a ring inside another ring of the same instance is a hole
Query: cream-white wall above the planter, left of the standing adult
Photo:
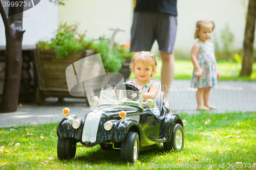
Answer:
[[98, 39], [105, 35], [111, 38], [110, 28], [119, 28], [115, 41], [130, 41], [130, 30], [133, 17], [132, 0], [69, 0], [65, 6], [59, 6], [59, 20], [62, 22], [80, 23], [80, 30], [88, 30], [89, 38]]

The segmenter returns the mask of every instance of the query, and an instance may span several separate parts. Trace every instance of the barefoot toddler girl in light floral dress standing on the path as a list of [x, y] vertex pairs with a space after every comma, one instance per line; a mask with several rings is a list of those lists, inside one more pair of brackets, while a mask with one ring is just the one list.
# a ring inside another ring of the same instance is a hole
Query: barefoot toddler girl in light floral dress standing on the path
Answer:
[[[191, 50], [191, 61], [194, 65], [191, 86], [197, 90], [197, 110], [217, 109], [209, 105], [210, 88], [217, 85], [221, 75], [217, 68], [214, 45], [208, 42], [215, 24], [211, 20], [197, 22], [195, 39], [199, 39]], [[204, 101], [204, 103], [203, 103]]]

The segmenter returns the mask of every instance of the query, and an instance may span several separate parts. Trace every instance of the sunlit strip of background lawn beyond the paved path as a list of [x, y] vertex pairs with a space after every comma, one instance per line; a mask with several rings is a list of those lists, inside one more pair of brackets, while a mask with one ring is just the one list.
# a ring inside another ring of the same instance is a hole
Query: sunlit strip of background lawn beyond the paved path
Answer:
[[[220, 80], [236, 80], [236, 81], [256, 81], [256, 62], [254, 62], [253, 68], [253, 76], [248, 77], [239, 77], [240, 74], [240, 66], [237, 62], [228, 62], [228, 61], [217, 61], [218, 69], [221, 73]], [[161, 68], [162, 61], [158, 61], [158, 67], [155, 78], [161, 79]], [[175, 78], [174, 79], [191, 79], [191, 75], [194, 69], [194, 65], [190, 60], [175, 60]], [[131, 78], [134, 79], [135, 76], [131, 75]]]

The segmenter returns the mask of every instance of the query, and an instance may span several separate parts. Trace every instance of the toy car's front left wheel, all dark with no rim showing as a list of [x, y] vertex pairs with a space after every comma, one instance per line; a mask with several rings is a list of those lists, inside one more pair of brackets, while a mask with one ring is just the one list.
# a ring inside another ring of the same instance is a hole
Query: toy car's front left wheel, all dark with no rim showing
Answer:
[[57, 155], [59, 159], [72, 159], [76, 155], [76, 139], [74, 138], [58, 138]]

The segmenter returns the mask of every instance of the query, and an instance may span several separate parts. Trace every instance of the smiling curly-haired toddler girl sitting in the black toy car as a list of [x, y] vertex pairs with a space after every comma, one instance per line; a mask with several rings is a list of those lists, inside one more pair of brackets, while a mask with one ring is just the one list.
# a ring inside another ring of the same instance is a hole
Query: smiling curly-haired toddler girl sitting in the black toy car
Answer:
[[[150, 110], [156, 115], [160, 115], [160, 111], [156, 105], [156, 96], [158, 94], [158, 84], [150, 80], [156, 74], [157, 57], [150, 52], [138, 52], [133, 56], [130, 69], [134, 72], [136, 79], [127, 81], [143, 91], [144, 100], [152, 99], [155, 102]], [[143, 100], [143, 101], [144, 101]]]

